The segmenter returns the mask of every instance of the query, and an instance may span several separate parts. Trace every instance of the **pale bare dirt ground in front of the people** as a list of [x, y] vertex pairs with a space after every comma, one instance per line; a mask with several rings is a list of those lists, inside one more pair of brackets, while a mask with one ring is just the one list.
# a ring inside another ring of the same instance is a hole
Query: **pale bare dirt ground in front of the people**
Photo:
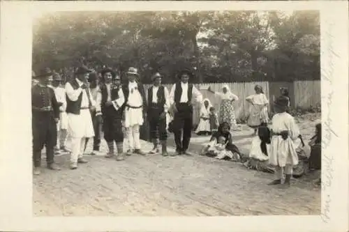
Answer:
[[[299, 119], [305, 141], [320, 116]], [[246, 126], [234, 133], [235, 144], [248, 151]], [[170, 139], [171, 140], [171, 139]], [[226, 216], [315, 215], [320, 213], [320, 188], [305, 177], [288, 190], [267, 185], [273, 174], [251, 171], [242, 164], [201, 157], [195, 148], [205, 143], [193, 137], [191, 156], [133, 155], [124, 162], [86, 155], [88, 164], [68, 169], [68, 155], [56, 157], [63, 169], [43, 168], [34, 176], [36, 216]], [[91, 145], [91, 144], [90, 144]], [[151, 144], [142, 141], [144, 151]], [[173, 148], [169, 148], [173, 152]]]

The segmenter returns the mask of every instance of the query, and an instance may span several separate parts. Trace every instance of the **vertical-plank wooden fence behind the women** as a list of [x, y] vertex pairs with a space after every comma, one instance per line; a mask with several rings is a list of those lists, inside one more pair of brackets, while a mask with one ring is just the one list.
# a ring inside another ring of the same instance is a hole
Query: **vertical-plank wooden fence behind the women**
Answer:
[[[248, 116], [249, 107], [251, 105], [246, 102], [245, 98], [248, 95], [255, 93], [254, 87], [256, 84], [262, 86], [263, 91], [267, 98], [269, 98], [269, 82], [232, 82], [232, 83], [212, 83], [212, 84], [195, 84], [200, 90], [203, 98], [208, 98], [211, 104], [219, 112], [221, 100], [219, 97], [207, 91], [207, 88], [211, 86], [213, 91], [221, 91], [223, 85], [228, 84], [230, 91], [239, 97], [239, 100], [233, 103], [235, 107], [235, 115], [237, 120], [244, 119]], [[321, 102], [320, 98], [320, 81], [296, 81], [293, 82], [294, 93], [290, 93], [290, 97], [295, 99], [295, 107], [309, 108], [310, 106], [316, 106]], [[146, 84], [144, 88], [147, 89], [151, 85]], [[165, 84], [168, 91], [171, 90], [172, 84]], [[272, 102], [272, 100], [270, 100]], [[199, 121], [200, 105], [194, 105], [193, 123], [197, 124]]]

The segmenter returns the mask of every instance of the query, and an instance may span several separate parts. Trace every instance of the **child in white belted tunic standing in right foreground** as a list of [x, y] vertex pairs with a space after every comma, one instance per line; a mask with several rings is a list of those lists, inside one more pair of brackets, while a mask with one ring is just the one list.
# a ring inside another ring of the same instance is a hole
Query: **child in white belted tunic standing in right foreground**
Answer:
[[293, 166], [298, 164], [295, 139], [299, 137], [299, 127], [295, 118], [286, 112], [288, 98], [280, 96], [274, 102], [276, 114], [272, 118], [272, 139], [270, 142], [269, 163], [276, 167], [276, 179], [269, 185], [281, 185], [283, 169], [285, 182], [282, 188], [290, 187]]

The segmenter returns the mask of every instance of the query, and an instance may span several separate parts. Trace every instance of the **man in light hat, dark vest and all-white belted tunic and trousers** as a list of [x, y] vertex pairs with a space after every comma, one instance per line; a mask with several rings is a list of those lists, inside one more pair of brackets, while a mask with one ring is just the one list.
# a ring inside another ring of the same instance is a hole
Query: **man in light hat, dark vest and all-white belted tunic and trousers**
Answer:
[[144, 123], [144, 113], [147, 108], [147, 100], [145, 98], [144, 86], [140, 82], [136, 82], [139, 77], [136, 68], [128, 68], [126, 72], [128, 82], [123, 85], [125, 96], [124, 109], [124, 125], [128, 137], [128, 146], [130, 150], [128, 155], [132, 153], [145, 155], [140, 150], [140, 126]]

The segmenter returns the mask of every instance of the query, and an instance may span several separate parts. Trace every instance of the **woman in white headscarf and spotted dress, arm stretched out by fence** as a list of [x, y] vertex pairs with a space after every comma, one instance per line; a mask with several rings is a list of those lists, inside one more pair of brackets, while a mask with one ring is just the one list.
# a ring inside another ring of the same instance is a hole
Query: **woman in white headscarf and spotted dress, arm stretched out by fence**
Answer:
[[237, 95], [230, 91], [228, 84], [224, 84], [222, 92], [215, 92], [211, 90], [211, 86], [207, 89], [211, 93], [218, 95], [221, 98], [221, 106], [219, 107], [219, 123], [228, 123], [233, 130], [237, 127], [235, 119], [235, 111], [232, 102], [239, 100]]

